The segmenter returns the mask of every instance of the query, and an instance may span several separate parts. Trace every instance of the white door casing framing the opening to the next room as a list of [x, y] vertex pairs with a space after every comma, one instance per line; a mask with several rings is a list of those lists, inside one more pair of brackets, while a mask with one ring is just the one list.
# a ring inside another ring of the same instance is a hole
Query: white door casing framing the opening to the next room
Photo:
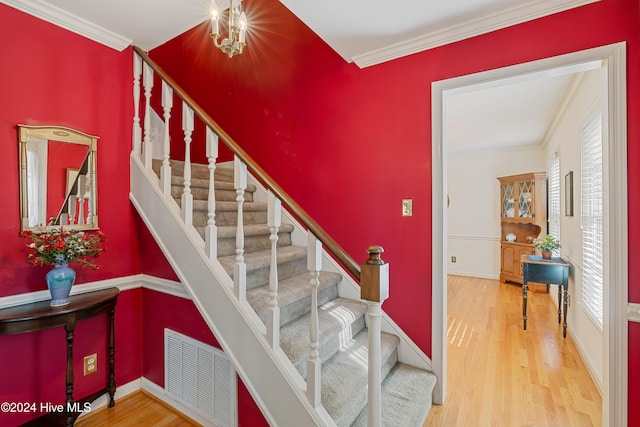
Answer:
[[432, 85], [432, 364], [438, 377], [434, 403], [446, 399], [447, 380], [447, 147], [443, 102], [448, 91], [559, 67], [602, 61], [605, 181], [603, 424], [627, 424], [627, 172], [626, 58], [617, 43], [511, 67], [434, 82]]

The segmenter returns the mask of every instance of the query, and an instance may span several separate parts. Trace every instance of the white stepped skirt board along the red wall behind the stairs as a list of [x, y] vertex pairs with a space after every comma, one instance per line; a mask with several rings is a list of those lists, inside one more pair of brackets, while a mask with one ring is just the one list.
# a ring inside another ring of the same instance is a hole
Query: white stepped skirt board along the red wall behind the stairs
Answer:
[[[231, 163], [225, 163], [222, 167], [233, 167]], [[256, 186], [253, 193], [255, 201], [267, 201], [267, 189], [249, 173], [248, 180]], [[291, 232], [291, 242], [294, 245], [306, 246], [307, 231], [304, 227], [283, 207], [282, 223], [293, 225]], [[336, 260], [330, 256], [327, 251], [322, 250], [322, 269], [332, 273], [338, 273], [342, 276], [342, 281], [338, 284], [338, 295], [342, 298], [360, 300], [360, 285], [342, 268]], [[389, 293], [393, 294], [393, 289], [389, 289]], [[404, 332], [393, 319], [382, 311], [380, 328], [383, 332], [396, 335], [400, 338], [398, 345], [398, 361], [416, 368], [433, 372], [431, 359], [427, 356], [411, 338]]]

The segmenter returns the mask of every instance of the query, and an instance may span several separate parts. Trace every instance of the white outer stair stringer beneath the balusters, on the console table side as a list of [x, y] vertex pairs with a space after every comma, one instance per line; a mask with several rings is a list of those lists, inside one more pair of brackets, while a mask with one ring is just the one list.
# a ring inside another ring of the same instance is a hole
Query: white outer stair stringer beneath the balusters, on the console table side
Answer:
[[208, 259], [196, 230], [183, 223], [175, 201], [160, 192], [158, 177], [136, 154], [130, 172], [131, 202], [269, 424], [335, 426], [322, 406], [309, 403], [300, 374], [281, 349], [269, 347], [253, 308], [236, 298], [229, 275]]

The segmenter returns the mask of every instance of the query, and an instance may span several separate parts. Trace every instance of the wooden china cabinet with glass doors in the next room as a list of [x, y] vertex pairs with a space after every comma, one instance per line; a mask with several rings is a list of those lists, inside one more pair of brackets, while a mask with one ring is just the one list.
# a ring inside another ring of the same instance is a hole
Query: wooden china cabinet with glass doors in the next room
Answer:
[[500, 181], [500, 281], [522, 284], [520, 257], [533, 255], [533, 239], [547, 230], [544, 172], [504, 176]]

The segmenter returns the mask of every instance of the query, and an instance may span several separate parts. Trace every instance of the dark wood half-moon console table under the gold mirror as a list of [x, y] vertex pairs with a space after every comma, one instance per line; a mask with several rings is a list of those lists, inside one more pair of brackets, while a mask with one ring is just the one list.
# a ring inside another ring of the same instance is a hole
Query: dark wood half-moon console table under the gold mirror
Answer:
[[[70, 303], [62, 307], [51, 307], [49, 300], [24, 304], [0, 310], [0, 335], [21, 334], [43, 329], [64, 326], [66, 331], [67, 367], [66, 367], [66, 404], [64, 411], [45, 414], [27, 425], [66, 425], [73, 426], [85, 402], [92, 402], [99, 396], [109, 393], [109, 407], [115, 405], [116, 381], [114, 315], [120, 290], [108, 288], [95, 292], [73, 295]], [[109, 375], [106, 388], [87, 396], [79, 402], [73, 400], [73, 333], [76, 322], [108, 314], [109, 337]], [[78, 404], [80, 403], [80, 404]], [[71, 409], [71, 410], [69, 410]], [[79, 409], [75, 411], [74, 409]], [[65, 424], [66, 420], [66, 424]]]

